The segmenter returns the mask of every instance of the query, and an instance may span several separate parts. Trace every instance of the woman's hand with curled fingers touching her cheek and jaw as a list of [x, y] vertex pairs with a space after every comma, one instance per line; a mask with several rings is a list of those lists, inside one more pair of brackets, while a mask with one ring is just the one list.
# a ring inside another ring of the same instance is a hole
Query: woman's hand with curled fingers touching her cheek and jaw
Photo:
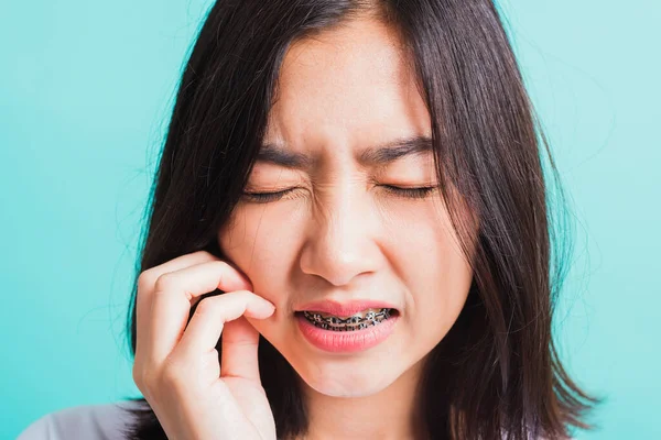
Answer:
[[[199, 299], [216, 288], [226, 293]], [[259, 333], [246, 319], [266, 319], [275, 307], [251, 289], [206, 251], [140, 274], [133, 381], [170, 440], [275, 439], [259, 376]]]

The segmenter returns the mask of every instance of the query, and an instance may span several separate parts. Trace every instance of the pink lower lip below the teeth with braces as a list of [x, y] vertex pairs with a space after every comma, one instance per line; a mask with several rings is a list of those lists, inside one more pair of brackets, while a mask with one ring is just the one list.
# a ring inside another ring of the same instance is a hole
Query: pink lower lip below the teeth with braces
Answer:
[[391, 316], [376, 326], [362, 330], [333, 331], [315, 327], [301, 315], [296, 315], [301, 332], [317, 349], [332, 353], [355, 353], [383, 342], [394, 330], [399, 316]]

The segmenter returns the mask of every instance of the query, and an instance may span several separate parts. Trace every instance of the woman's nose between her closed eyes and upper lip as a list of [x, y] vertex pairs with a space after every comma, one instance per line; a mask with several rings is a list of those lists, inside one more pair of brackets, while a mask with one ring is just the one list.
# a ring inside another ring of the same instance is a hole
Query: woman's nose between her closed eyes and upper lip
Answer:
[[375, 208], [358, 186], [344, 185], [316, 196], [301, 253], [302, 271], [334, 286], [376, 272], [383, 261]]

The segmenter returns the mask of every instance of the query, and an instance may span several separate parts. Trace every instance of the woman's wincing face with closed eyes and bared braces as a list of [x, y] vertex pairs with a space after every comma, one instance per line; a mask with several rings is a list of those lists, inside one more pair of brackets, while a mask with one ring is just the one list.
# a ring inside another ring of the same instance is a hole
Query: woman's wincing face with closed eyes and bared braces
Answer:
[[[384, 389], [444, 338], [465, 304], [473, 273], [440, 190], [387, 187], [437, 185], [431, 150], [379, 148], [424, 136], [430, 116], [388, 28], [354, 22], [291, 46], [264, 139], [270, 150], [246, 187], [288, 193], [242, 199], [218, 240], [254, 293], [277, 307], [250, 322], [318, 393]], [[279, 163], [282, 152], [297, 161]], [[314, 320], [323, 306], [312, 301], [357, 300], [397, 312], [376, 324], [358, 315], [362, 330], [327, 319], [318, 329], [300, 312]]]

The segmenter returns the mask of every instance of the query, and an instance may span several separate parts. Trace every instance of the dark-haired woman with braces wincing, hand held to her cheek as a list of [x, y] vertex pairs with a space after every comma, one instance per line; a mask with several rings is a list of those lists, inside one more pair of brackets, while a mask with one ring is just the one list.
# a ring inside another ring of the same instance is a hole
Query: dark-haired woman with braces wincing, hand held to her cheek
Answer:
[[144, 399], [51, 424], [144, 440], [589, 429], [598, 400], [552, 339], [567, 249], [538, 132], [489, 0], [218, 1], [129, 314]]

